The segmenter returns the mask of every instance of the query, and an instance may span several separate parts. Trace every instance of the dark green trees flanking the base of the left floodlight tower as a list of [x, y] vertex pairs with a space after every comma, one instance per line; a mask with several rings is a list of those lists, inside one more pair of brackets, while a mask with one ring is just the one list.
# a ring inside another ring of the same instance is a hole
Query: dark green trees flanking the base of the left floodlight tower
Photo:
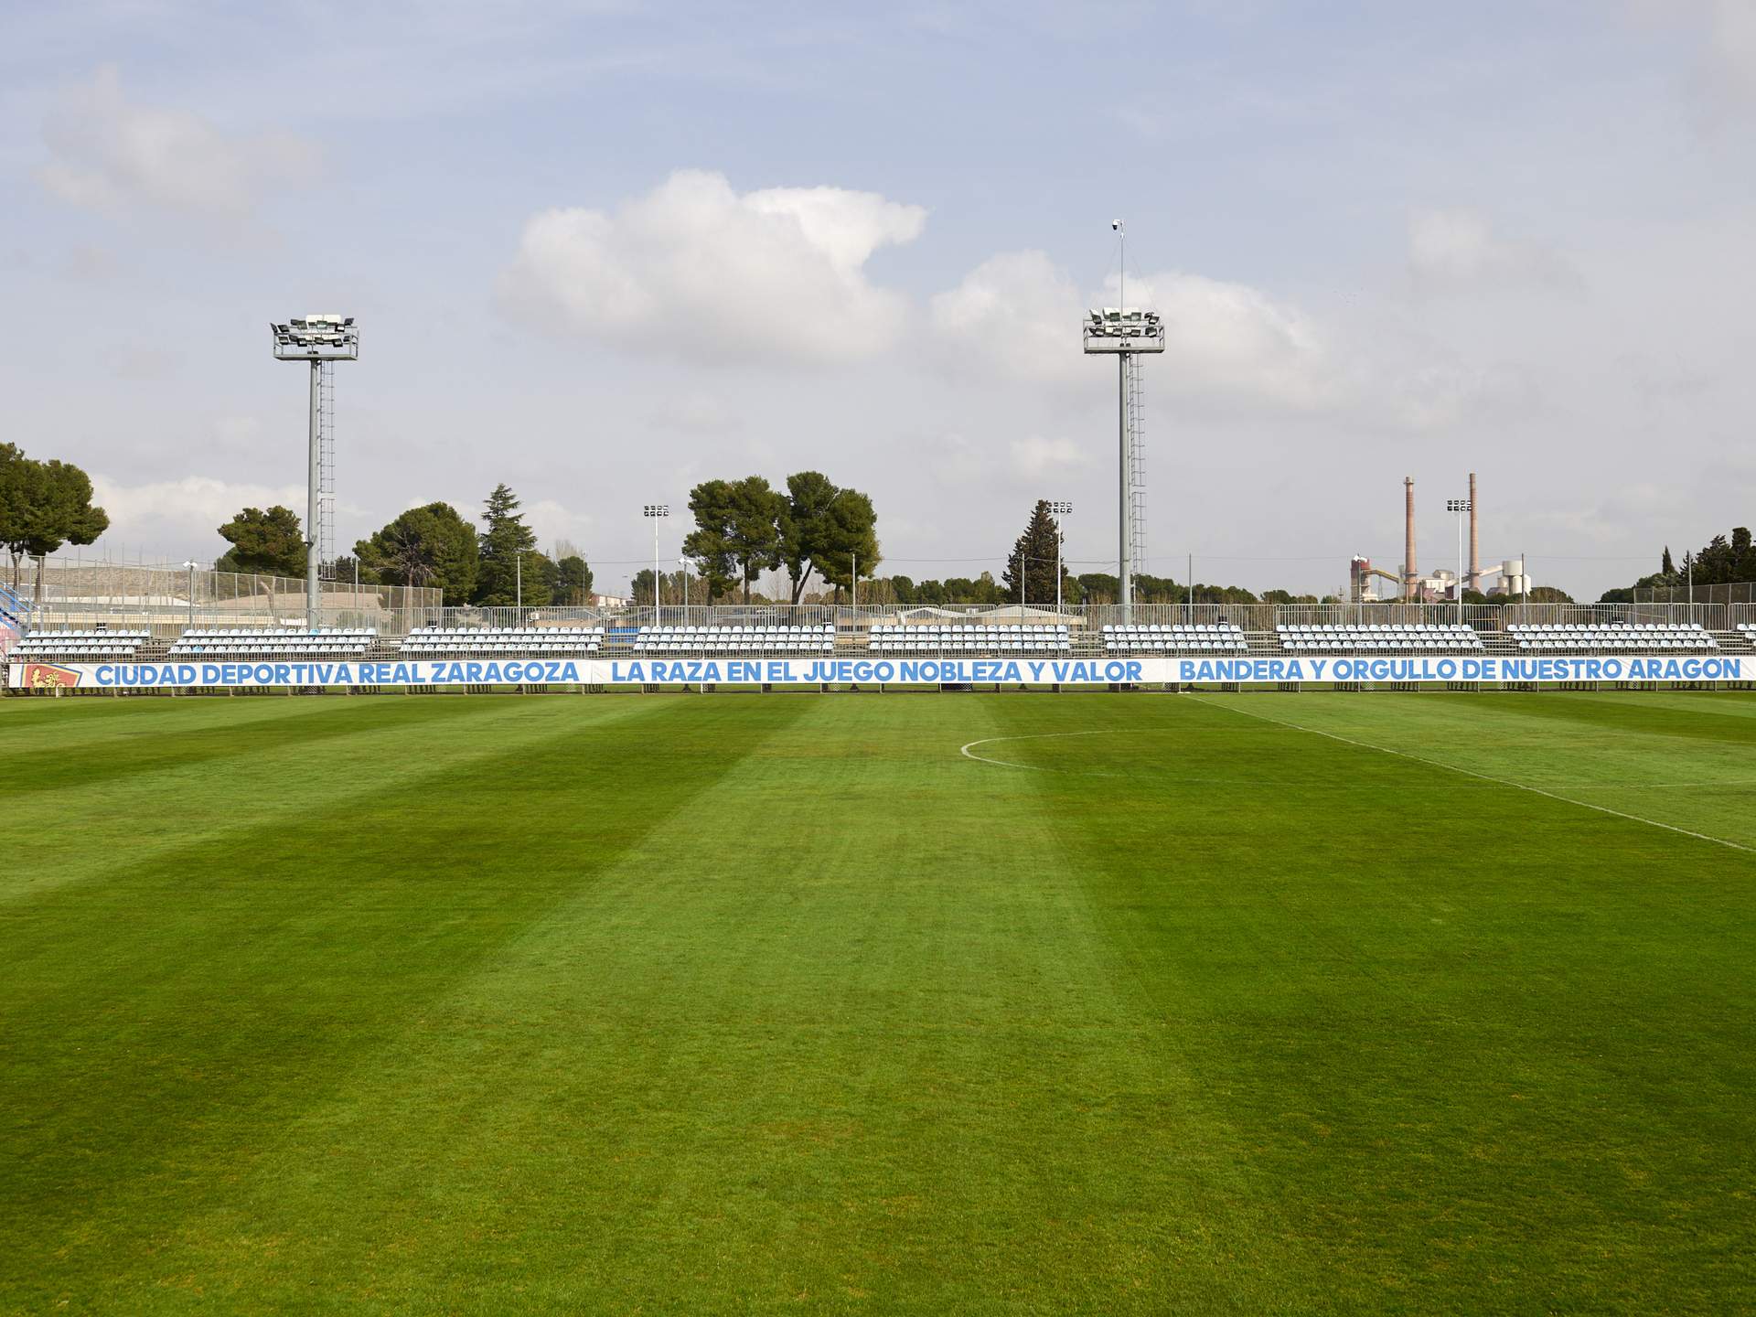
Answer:
[[[334, 564], [337, 579], [439, 590], [446, 608], [581, 606], [592, 602], [592, 569], [571, 544], [550, 557], [518, 511], [518, 495], [495, 485], [483, 500], [483, 527], [448, 502], [411, 507]], [[304, 578], [306, 541], [290, 507], [244, 507], [220, 527], [232, 546], [214, 571]]]

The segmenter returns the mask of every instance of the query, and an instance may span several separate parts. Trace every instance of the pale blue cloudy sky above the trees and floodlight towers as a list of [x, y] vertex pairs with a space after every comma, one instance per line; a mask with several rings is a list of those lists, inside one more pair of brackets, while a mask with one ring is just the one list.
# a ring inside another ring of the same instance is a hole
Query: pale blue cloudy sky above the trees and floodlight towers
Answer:
[[[1575, 594], [1756, 515], [1756, 5], [0, 0], [4, 437], [133, 558], [304, 506], [342, 311], [339, 539], [497, 481], [601, 588], [643, 502], [817, 467], [887, 571], [1115, 553], [1113, 300], [1150, 571], [1336, 590], [1482, 557]], [[681, 525], [676, 523], [678, 534]], [[674, 551], [674, 550], [673, 550]], [[1113, 569], [1113, 567], [1112, 567]]]

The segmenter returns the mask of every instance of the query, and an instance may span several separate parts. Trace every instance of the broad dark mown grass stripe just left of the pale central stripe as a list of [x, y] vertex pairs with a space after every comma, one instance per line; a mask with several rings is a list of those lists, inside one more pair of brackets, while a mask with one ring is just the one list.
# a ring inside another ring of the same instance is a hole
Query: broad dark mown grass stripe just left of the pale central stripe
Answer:
[[[349, 1059], [738, 771], [711, 713], [653, 701], [641, 715], [581, 729], [592, 713], [551, 709], [523, 743], [476, 722], [492, 753], [465, 743], [451, 764], [390, 741], [342, 767], [316, 743], [328, 790], [362, 792], [353, 834], [297, 811], [16, 908], [0, 925], [19, 952], [0, 961], [0, 1159], [18, 1208], [0, 1292], [51, 1299], [98, 1266], [112, 1306], [112, 1278]], [[673, 753], [639, 778], [651, 813], [594, 808], [592, 788], [655, 739]], [[418, 794], [363, 794], [404, 755], [423, 760]]]

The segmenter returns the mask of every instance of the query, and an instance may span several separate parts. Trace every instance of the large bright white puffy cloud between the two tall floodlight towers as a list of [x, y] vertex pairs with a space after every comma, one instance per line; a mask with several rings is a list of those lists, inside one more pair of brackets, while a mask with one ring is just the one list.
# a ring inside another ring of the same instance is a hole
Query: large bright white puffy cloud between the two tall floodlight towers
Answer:
[[855, 360], [889, 348], [908, 314], [866, 262], [925, 218], [869, 191], [738, 193], [723, 174], [680, 170], [613, 214], [534, 214], [499, 297], [544, 332], [634, 351]]

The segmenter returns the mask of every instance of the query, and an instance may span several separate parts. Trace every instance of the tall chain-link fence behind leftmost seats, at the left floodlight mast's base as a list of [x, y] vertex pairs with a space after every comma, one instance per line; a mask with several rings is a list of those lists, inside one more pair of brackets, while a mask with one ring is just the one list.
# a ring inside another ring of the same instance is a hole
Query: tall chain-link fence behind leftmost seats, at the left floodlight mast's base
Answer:
[[[39, 579], [40, 569], [40, 579]], [[376, 627], [402, 636], [439, 611], [439, 590], [320, 581], [321, 625]], [[144, 627], [158, 637], [184, 627], [304, 627], [306, 583], [172, 564], [46, 558], [23, 565], [18, 597], [33, 630]]]

